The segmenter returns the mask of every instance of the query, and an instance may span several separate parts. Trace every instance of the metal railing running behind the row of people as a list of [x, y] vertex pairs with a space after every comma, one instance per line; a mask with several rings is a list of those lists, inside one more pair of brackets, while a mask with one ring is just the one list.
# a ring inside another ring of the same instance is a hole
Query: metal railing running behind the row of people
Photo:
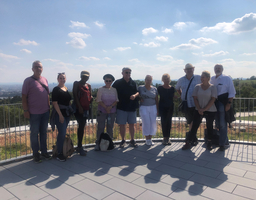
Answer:
[[[236, 121], [228, 130], [229, 139], [232, 142], [246, 142], [253, 144], [256, 141], [256, 112], [254, 107], [256, 98], [235, 98], [233, 108], [236, 115]], [[204, 138], [205, 120], [198, 129], [198, 138]], [[96, 119], [90, 120], [85, 127], [85, 136], [83, 144], [94, 144], [96, 140], [97, 123]], [[185, 138], [188, 126], [181, 113], [174, 109], [171, 139], [181, 140]], [[127, 127], [127, 133], [128, 127]], [[71, 118], [67, 128], [74, 145], [77, 145], [77, 122], [74, 117]], [[50, 125], [47, 133], [48, 150], [56, 143], [57, 130], [52, 131]], [[162, 138], [160, 118], [157, 118], [157, 133], [154, 138]], [[114, 126], [113, 140], [120, 140], [119, 127]], [[126, 134], [129, 139], [129, 134]], [[135, 139], [144, 139], [142, 135], [141, 119], [137, 117], [135, 125]], [[23, 109], [20, 103], [0, 105], [0, 162], [30, 156], [30, 128], [29, 121], [23, 116]]]

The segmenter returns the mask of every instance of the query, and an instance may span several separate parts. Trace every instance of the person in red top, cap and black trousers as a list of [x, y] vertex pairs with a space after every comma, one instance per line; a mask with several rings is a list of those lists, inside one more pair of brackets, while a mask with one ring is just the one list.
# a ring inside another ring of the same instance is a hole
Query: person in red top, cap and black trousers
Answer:
[[84, 128], [86, 124], [86, 119], [89, 117], [90, 103], [93, 97], [92, 88], [87, 81], [89, 80], [90, 73], [88, 71], [81, 71], [81, 80], [75, 81], [73, 84], [73, 96], [75, 105], [75, 117], [78, 123], [77, 130], [77, 152], [81, 156], [86, 155], [86, 151], [82, 147], [82, 141], [84, 136]]

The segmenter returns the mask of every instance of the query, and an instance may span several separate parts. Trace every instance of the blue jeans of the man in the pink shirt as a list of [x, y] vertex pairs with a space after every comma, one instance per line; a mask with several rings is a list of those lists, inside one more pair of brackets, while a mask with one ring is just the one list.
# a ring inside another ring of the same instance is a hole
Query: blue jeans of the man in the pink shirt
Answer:
[[[30, 114], [30, 142], [33, 155], [38, 153], [47, 153], [47, 128], [49, 120], [49, 111], [43, 114]], [[38, 141], [38, 133], [40, 135], [40, 144]]]

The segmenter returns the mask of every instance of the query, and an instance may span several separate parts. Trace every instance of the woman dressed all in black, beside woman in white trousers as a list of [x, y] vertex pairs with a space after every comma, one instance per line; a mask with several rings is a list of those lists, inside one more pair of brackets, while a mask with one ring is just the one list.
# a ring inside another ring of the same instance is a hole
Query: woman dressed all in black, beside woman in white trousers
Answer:
[[169, 140], [170, 131], [172, 128], [172, 115], [173, 115], [173, 97], [175, 93], [174, 87], [170, 85], [171, 79], [169, 74], [163, 74], [163, 85], [157, 88], [160, 95], [159, 100], [159, 114], [161, 116], [161, 125], [163, 132], [163, 145], [171, 145]]

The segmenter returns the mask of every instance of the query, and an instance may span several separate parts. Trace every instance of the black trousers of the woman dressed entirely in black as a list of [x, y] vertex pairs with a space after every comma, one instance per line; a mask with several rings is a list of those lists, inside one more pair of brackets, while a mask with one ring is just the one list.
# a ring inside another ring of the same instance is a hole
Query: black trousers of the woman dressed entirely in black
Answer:
[[161, 116], [161, 126], [162, 126], [163, 137], [169, 138], [170, 132], [172, 129], [173, 106], [161, 108], [159, 112]]

